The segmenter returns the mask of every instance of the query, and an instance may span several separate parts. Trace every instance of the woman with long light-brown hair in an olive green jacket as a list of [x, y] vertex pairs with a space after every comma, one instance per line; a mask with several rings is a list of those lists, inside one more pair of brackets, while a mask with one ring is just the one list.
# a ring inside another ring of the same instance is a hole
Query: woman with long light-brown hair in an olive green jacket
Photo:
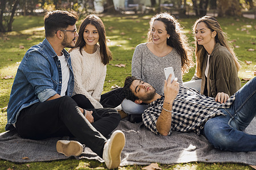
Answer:
[[218, 21], [203, 16], [193, 26], [196, 37], [195, 79], [202, 79], [201, 94], [225, 102], [241, 87], [241, 65]]

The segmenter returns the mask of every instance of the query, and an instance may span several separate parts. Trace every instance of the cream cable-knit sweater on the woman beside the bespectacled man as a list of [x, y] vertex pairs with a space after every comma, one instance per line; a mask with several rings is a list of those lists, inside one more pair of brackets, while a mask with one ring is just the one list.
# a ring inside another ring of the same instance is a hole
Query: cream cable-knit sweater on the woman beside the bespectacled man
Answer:
[[93, 54], [82, 49], [81, 55], [79, 48], [73, 49], [70, 54], [75, 78], [73, 94], [85, 95], [94, 108], [102, 108], [99, 101], [106, 77], [106, 65], [101, 62], [99, 46]]

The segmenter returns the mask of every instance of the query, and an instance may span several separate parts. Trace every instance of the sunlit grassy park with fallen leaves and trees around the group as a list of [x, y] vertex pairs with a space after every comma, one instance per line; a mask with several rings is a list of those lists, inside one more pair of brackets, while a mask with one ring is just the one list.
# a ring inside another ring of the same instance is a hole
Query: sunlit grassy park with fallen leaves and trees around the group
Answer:
[[[0, 1], [0, 133], [5, 131], [7, 104], [16, 70], [27, 49], [44, 39], [43, 15], [51, 10], [75, 10], [81, 20], [88, 14], [97, 14], [105, 24], [108, 46], [113, 61], [107, 66], [104, 92], [122, 87], [131, 75], [131, 58], [135, 46], [147, 41], [150, 18], [159, 12], [174, 15], [195, 47], [192, 25], [204, 15], [215, 16], [234, 47], [242, 68], [238, 72], [242, 85], [256, 74], [255, 57], [255, 1], [253, 0], [1, 0]], [[195, 61], [195, 57], [193, 56]], [[190, 80], [193, 66], [183, 75]], [[1, 148], [1, 146], [0, 146]], [[234, 163], [159, 164], [162, 169], [253, 169]], [[60, 160], [47, 163], [19, 164], [0, 160], [0, 169], [104, 169], [104, 164], [92, 160]], [[121, 169], [141, 169], [133, 165]]]

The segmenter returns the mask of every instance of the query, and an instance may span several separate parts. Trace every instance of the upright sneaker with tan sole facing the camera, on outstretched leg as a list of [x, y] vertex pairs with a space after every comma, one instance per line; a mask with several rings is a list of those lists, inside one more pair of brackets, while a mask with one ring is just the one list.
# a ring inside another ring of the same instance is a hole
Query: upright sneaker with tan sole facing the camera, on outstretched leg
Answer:
[[121, 130], [115, 130], [108, 142], [105, 143], [103, 159], [109, 169], [118, 168], [121, 162], [121, 152], [125, 147], [125, 134]]

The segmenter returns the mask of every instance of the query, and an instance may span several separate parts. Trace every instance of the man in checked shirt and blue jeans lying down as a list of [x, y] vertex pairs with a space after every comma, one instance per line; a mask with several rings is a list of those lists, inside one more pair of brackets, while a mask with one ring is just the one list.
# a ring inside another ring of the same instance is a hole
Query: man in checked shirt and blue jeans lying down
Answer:
[[[171, 75], [164, 84], [164, 95], [156, 94], [150, 84], [128, 76], [126, 99], [150, 104], [142, 114], [147, 129], [155, 134], [171, 135], [172, 130], [203, 134], [220, 150], [256, 151], [256, 135], [243, 133], [256, 114], [256, 78], [247, 82], [233, 96], [223, 92], [214, 100], [193, 88], [179, 86]], [[221, 99], [221, 100], [220, 100]]]

